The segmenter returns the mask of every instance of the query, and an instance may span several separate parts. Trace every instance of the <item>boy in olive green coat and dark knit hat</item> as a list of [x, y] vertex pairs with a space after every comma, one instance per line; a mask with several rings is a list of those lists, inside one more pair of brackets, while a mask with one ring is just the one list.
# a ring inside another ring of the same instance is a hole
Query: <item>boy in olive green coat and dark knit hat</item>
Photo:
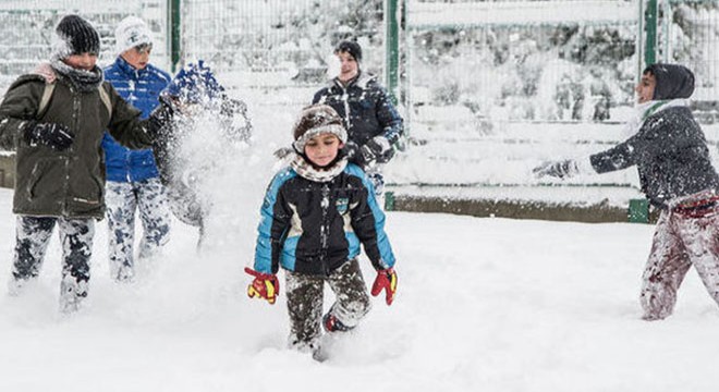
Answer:
[[16, 151], [13, 212], [17, 215], [11, 295], [17, 295], [42, 265], [59, 226], [63, 267], [60, 309], [78, 308], [87, 296], [94, 220], [105, 213], [105, 130], [131, 148], [147, 148], [167, 108], [139, 121], [102, 78], [100, 38], [76, 15], [56, 28], [49, 63], [23, 75], [0, 105], [0, 148]]

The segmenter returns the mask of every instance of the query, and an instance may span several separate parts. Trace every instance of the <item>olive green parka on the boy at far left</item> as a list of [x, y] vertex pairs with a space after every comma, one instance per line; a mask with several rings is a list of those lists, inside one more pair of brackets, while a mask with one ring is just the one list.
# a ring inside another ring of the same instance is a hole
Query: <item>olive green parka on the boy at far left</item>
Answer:
[[[105, 130], [130, 148], [147, 148], [141, 112], [126, 103], [107, 82], [111, 113], [98, 89], [77, 91], [58, 75], [47, 109], [38, 115], [45, 78], [23, 75], [8, 89], [0, 105], [0, 148], [16, 150], [13, 212], [35, 217], [97, 218], [105, 216], [105, 158], [100, 143]], [[63, 151], [31, 146], [24, 137], [28, 122], [59, 123], [75, 135]]]

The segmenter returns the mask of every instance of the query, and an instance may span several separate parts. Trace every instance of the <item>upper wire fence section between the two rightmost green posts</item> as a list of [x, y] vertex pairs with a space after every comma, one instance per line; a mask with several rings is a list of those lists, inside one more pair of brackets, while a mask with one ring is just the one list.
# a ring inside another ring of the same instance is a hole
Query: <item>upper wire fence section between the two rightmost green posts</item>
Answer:
[[609, 120], [632, 100], [638, 14], [634, 0], [409, 0], [409, 107], [417, 120], [428, 102], [487, 122]]

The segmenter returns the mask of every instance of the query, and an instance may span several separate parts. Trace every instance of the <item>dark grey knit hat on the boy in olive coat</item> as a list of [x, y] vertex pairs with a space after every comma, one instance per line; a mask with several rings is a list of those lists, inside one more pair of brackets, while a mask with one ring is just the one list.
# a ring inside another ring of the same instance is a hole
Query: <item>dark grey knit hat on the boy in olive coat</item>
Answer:
[[100, 35], [89, 22], [77, 15], [64, 16], [54, 33], [53, 56], [64, 59], [71, 54], [100, 53]]

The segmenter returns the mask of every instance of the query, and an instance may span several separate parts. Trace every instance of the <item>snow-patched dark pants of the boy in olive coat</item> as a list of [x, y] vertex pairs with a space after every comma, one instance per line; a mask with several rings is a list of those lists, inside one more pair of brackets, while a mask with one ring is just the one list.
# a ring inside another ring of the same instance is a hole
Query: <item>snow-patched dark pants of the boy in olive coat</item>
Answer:
[[94, 219], [17, 216], [11, 287], [19, 290], [28, 280], [37, 278], [56, 223], [62, 246], [60, 307], [63, 311], [72, 311], [87, 296]]

